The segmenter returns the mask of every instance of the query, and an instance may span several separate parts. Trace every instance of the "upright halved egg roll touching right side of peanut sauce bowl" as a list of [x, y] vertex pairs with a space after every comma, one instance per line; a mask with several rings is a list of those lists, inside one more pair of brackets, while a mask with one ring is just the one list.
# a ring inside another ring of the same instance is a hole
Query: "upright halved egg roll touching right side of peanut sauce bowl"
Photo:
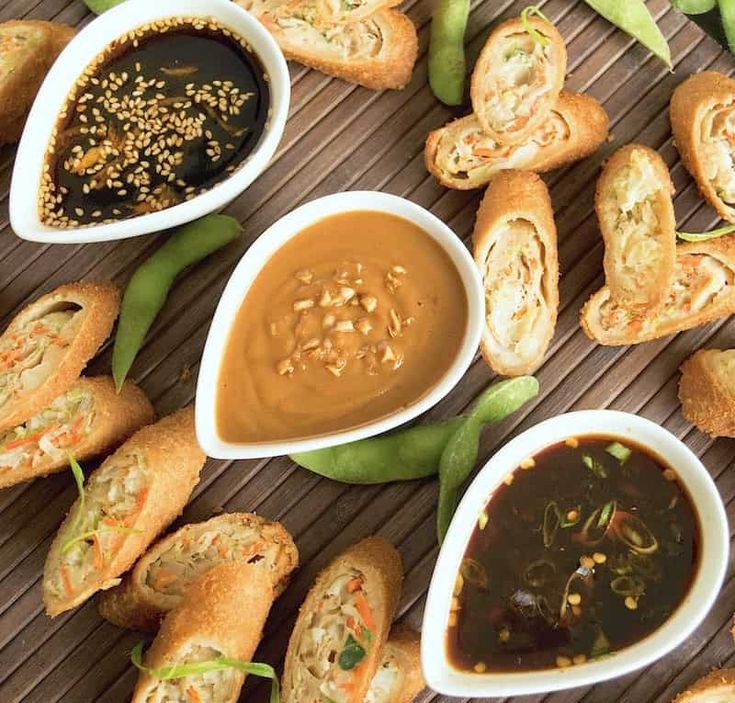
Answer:
[[530, 171], [503, 171], [477, 211], [475, 263], [485, 288], [481, 349], [499, 374], [533, 373], [559, 309], [559, 256], [549, 191]]

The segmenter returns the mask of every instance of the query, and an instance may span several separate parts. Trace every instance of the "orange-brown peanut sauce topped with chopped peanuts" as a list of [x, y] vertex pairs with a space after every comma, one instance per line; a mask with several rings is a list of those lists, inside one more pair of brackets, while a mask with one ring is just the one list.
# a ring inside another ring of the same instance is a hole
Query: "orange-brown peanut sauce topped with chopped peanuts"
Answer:
[[459, 353], [467, 308], [448, 254], [408, 220], [355, 211], [311, 225], [237, 313], [218, 379], [221, 438], [316, 436], [415, 402]]

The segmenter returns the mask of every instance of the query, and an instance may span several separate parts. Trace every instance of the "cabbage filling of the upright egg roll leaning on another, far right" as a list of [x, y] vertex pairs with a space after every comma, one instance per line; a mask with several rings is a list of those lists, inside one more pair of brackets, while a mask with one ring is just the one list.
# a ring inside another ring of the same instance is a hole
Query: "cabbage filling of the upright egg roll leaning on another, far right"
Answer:
[[615, 217], [618, 274], [631, 291], [644, 286], [662, 264], [664, 248], [656, 197], [663, 189], [651, 160], [645, 152], [635, 150], [606, 194], [606, 206]]

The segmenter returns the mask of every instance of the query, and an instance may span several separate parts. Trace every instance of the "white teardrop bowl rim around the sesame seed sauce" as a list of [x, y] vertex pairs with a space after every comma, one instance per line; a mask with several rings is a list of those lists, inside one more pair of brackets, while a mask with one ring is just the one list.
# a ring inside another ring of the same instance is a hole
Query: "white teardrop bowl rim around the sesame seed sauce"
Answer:
[[[59, 111], [86, 66], [117, 37], [166, 17], [214, 18], [253, 48], [269, 77], [270, 118], [260, 142], [240, 168], [210, 190], [161, 212], [111, 224], [47, 227], [38, 212], [38, 190]], [[100, 242], [148, 234], [190, 222], [237, 197], [266, 168], [283, 134], [291, 82], [283, 53], [250, 13], [230, 0], [128, 0], [91, 22], [64, 49], [43, 82], [26, 122], [13, 169], [10, 224], [22, 239], [56, 244]]]

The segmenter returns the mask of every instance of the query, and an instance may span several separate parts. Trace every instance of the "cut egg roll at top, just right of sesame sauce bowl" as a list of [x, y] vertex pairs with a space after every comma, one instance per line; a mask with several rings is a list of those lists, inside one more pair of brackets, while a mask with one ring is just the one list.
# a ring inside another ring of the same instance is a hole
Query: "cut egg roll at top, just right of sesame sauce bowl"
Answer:
[[[382, 9], [359, 22], [312, 25], [291, 12], [279, 8], [257, 15], [286, 58], [371, 90], [402, 88], [411, 80], [418, 55], [418, 37], [413, 22], [403, 13]], [[356, 56], [342, 55], [334, 41], [334, 37], [347, 36], [350, 32], [359, 37], [357, 46], [352, 46]], [[327, 39], [325, 34], [331, 38]], [[368, 35], [380, 42], [377, 51], [367, 45]]]

